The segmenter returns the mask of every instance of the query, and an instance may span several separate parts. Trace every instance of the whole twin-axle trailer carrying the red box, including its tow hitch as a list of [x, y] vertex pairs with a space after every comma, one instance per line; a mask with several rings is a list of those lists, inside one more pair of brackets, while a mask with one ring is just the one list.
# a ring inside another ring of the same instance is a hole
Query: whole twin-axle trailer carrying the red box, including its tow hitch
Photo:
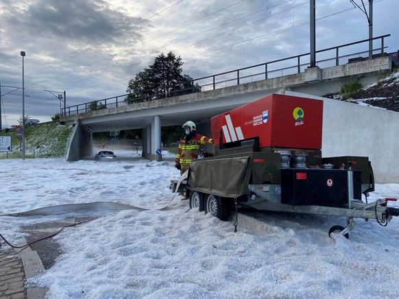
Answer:
[[399, 216], [388, 207], [396, 199], [367, 202], [374, 191], [368, 157], [322, 157], [322, 123], [323, 101], [276, 94], [213, 117], [215, 151], [191, 163], [183, 181], [190, 208], [223, 221], [233, 207], [343, 216], [346, 227], [328, 235], [345, 237], [354, 218], [386, 226]]

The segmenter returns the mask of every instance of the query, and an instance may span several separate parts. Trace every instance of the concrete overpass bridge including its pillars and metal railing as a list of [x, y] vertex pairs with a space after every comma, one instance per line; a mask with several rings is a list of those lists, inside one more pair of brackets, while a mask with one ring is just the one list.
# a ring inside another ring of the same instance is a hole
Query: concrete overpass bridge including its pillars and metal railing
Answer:
[[[308, 53], [273, 62], [284, 62], [287, 65], [289, 63], [287, 61], [296, 60], [295, 64], [290, 67], [270, 69], [270, 65], [273, 63], [268, 62], [251, 67], [257, 69], [261, 67], [263, 71], [255, 71], [250, 75], [243, 75], [247, 69], [250, 69], [246, 68], [200, 78], [195, 80], [195, 83], [201, 83], [199, 85], [202, 87], [202, 91], [198, 93], [135, 104], [125, 104], [123, 96], [121, 96], [122, 99], [121, 97], [102, 99], [99, 103], [106, 108], [92, 111], [88, 110], [90, 103], [65, 108], [60, 122], [75, 125], [67, 160], [80, 160], [92, 155], [93, 132], [129, 129], [143, 130], [143, 157], [162, 160], [162, 156], [156, 154], [156, 150], [160, 148], [161, 127], [181, 125], [185, 121], [191, 120], [197, 123], [199, 132], [210, 135], [210, 117], [271, 93], [284, 94], [289, 91], [322, 96], [327, 93], [336, 93], [342, 82], [349, 78], [351, 80], [361, 78], [363, 84], [371, 84], [391, 71], [391, 59], [384, 54], [383, 40], [385, 37], [387, 36], [374, 38], [381, 40], [381, 47], [377, 49], [379, 53], [376, 54], [376, 57], [371, 60], [361, 58], [361, 53], [367, 51], [339, 56], [340, 49], [368, 42], [368, 40], [363, 40], [318, 51], [320, 54], [325, 54], [325, 51], [333, 51], [335, 55], [333, 58], [319, 60], [317, 67], [310, 68], [309, 62], [301, 62], [301, 59], [303, 60], [306, 55], [309, 55]], [[339, 60], [345, 60], [346, 63], [339, 65]], [[324, 67], [323, 64], [332, 61], [332, 66]], [[285, 75], [287, 72], [289, 74]], [[273, 73], [274, 76], [271, 76]], [[258, 80], [259, 76], [264, 78]], [[208, 82], [206, 82], [207, 80]]]

